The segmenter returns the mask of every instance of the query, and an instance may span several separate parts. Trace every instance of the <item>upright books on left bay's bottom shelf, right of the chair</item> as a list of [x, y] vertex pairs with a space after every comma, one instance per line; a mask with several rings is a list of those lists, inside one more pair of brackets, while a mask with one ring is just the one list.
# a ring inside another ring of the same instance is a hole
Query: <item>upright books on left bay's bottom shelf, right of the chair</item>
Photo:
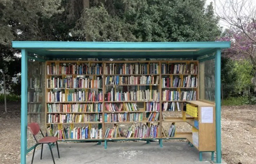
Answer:
[[63, 129], [56, 130], [54, 134], [55, 137], [58, 137], [59, 140], [68, 140], [68, 139], [101, 139], [102, 138], [102, 129], [86, 127], [66, 127]]

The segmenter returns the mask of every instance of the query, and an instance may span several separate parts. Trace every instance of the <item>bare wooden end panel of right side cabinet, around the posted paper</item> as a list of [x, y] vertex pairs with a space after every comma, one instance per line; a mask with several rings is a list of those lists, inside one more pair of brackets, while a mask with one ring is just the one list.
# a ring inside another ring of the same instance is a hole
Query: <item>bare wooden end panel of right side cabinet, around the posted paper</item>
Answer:
[[[201, 118], [202, 107], [213, 107], [212, 123], [202, 123], [202, 118]], [[202, 102], [202, 105], [198, 106], [198, 118], [199, 118], [199, 151], [215, 151], [216, 150], [215, 106]]]

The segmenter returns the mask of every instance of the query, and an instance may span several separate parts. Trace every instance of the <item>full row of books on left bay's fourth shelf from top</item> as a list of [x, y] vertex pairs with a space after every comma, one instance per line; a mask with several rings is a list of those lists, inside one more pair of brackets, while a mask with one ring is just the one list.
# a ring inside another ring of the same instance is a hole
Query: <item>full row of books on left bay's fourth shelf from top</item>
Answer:
[[102, 103], [98, 104], [47, 104], [48, 113], [66, 112], [102, 112]]

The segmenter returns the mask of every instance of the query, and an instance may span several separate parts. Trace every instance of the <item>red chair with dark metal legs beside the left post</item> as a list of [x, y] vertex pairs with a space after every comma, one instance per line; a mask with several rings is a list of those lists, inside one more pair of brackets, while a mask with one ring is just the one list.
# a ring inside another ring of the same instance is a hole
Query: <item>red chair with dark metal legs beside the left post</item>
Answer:
[[[37, 144], [35, 144], [35, 148], [38, 145], [42, 144], [41, 158], [40, 159], [42, 159], [42, 155], [43, 155], [43, 145], [48, 144], [48, 146], [50, 148], [50, 151], [51, 151], [51, 154], [52, 154], [52, 148], [51, 148], [50, 144], [53, 144], [55, 142], [56, 142], [56, 146], [57, 146], [57, 150], [58, 150], [58, 156], [60, 158], [59, 147], [58, 147], [58, 143], [57, 143], [57, 140], [58, 140], [57, 137], [52, 137], [52, 136], [46, 136], [45, 137], [44, 134], [42, 133], [42, 130], [40, 129], [40, 126], [35, 122], [32, 122], [32, 123], [28, 124], [27, 127], [30, 129], [30, 132], [32, 133], [35, 141], [37, 142]], [[37, 141], [37, 138], [35, 136], [38, 134], [39, 131], [41, 132], [43, 138], [41, 138], [39, 141]], [[34, 148], [31, 164], [33, 164], [34, 155], [35, 155], [35, 148]], [[53, 154], [52, 154], [52, 160], [53, 160], [53, 163], [55, 164]]]

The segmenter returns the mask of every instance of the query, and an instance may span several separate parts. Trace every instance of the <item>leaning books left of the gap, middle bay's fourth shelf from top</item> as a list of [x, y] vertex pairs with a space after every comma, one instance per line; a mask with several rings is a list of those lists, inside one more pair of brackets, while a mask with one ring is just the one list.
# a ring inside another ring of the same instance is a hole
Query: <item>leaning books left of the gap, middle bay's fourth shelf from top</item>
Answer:
[[105, 103], [105, 110], [109, 112], [117, 112], [117, 111], [138, 111], [137, 104], [135, 102], [125, 102], [119, 103]]

